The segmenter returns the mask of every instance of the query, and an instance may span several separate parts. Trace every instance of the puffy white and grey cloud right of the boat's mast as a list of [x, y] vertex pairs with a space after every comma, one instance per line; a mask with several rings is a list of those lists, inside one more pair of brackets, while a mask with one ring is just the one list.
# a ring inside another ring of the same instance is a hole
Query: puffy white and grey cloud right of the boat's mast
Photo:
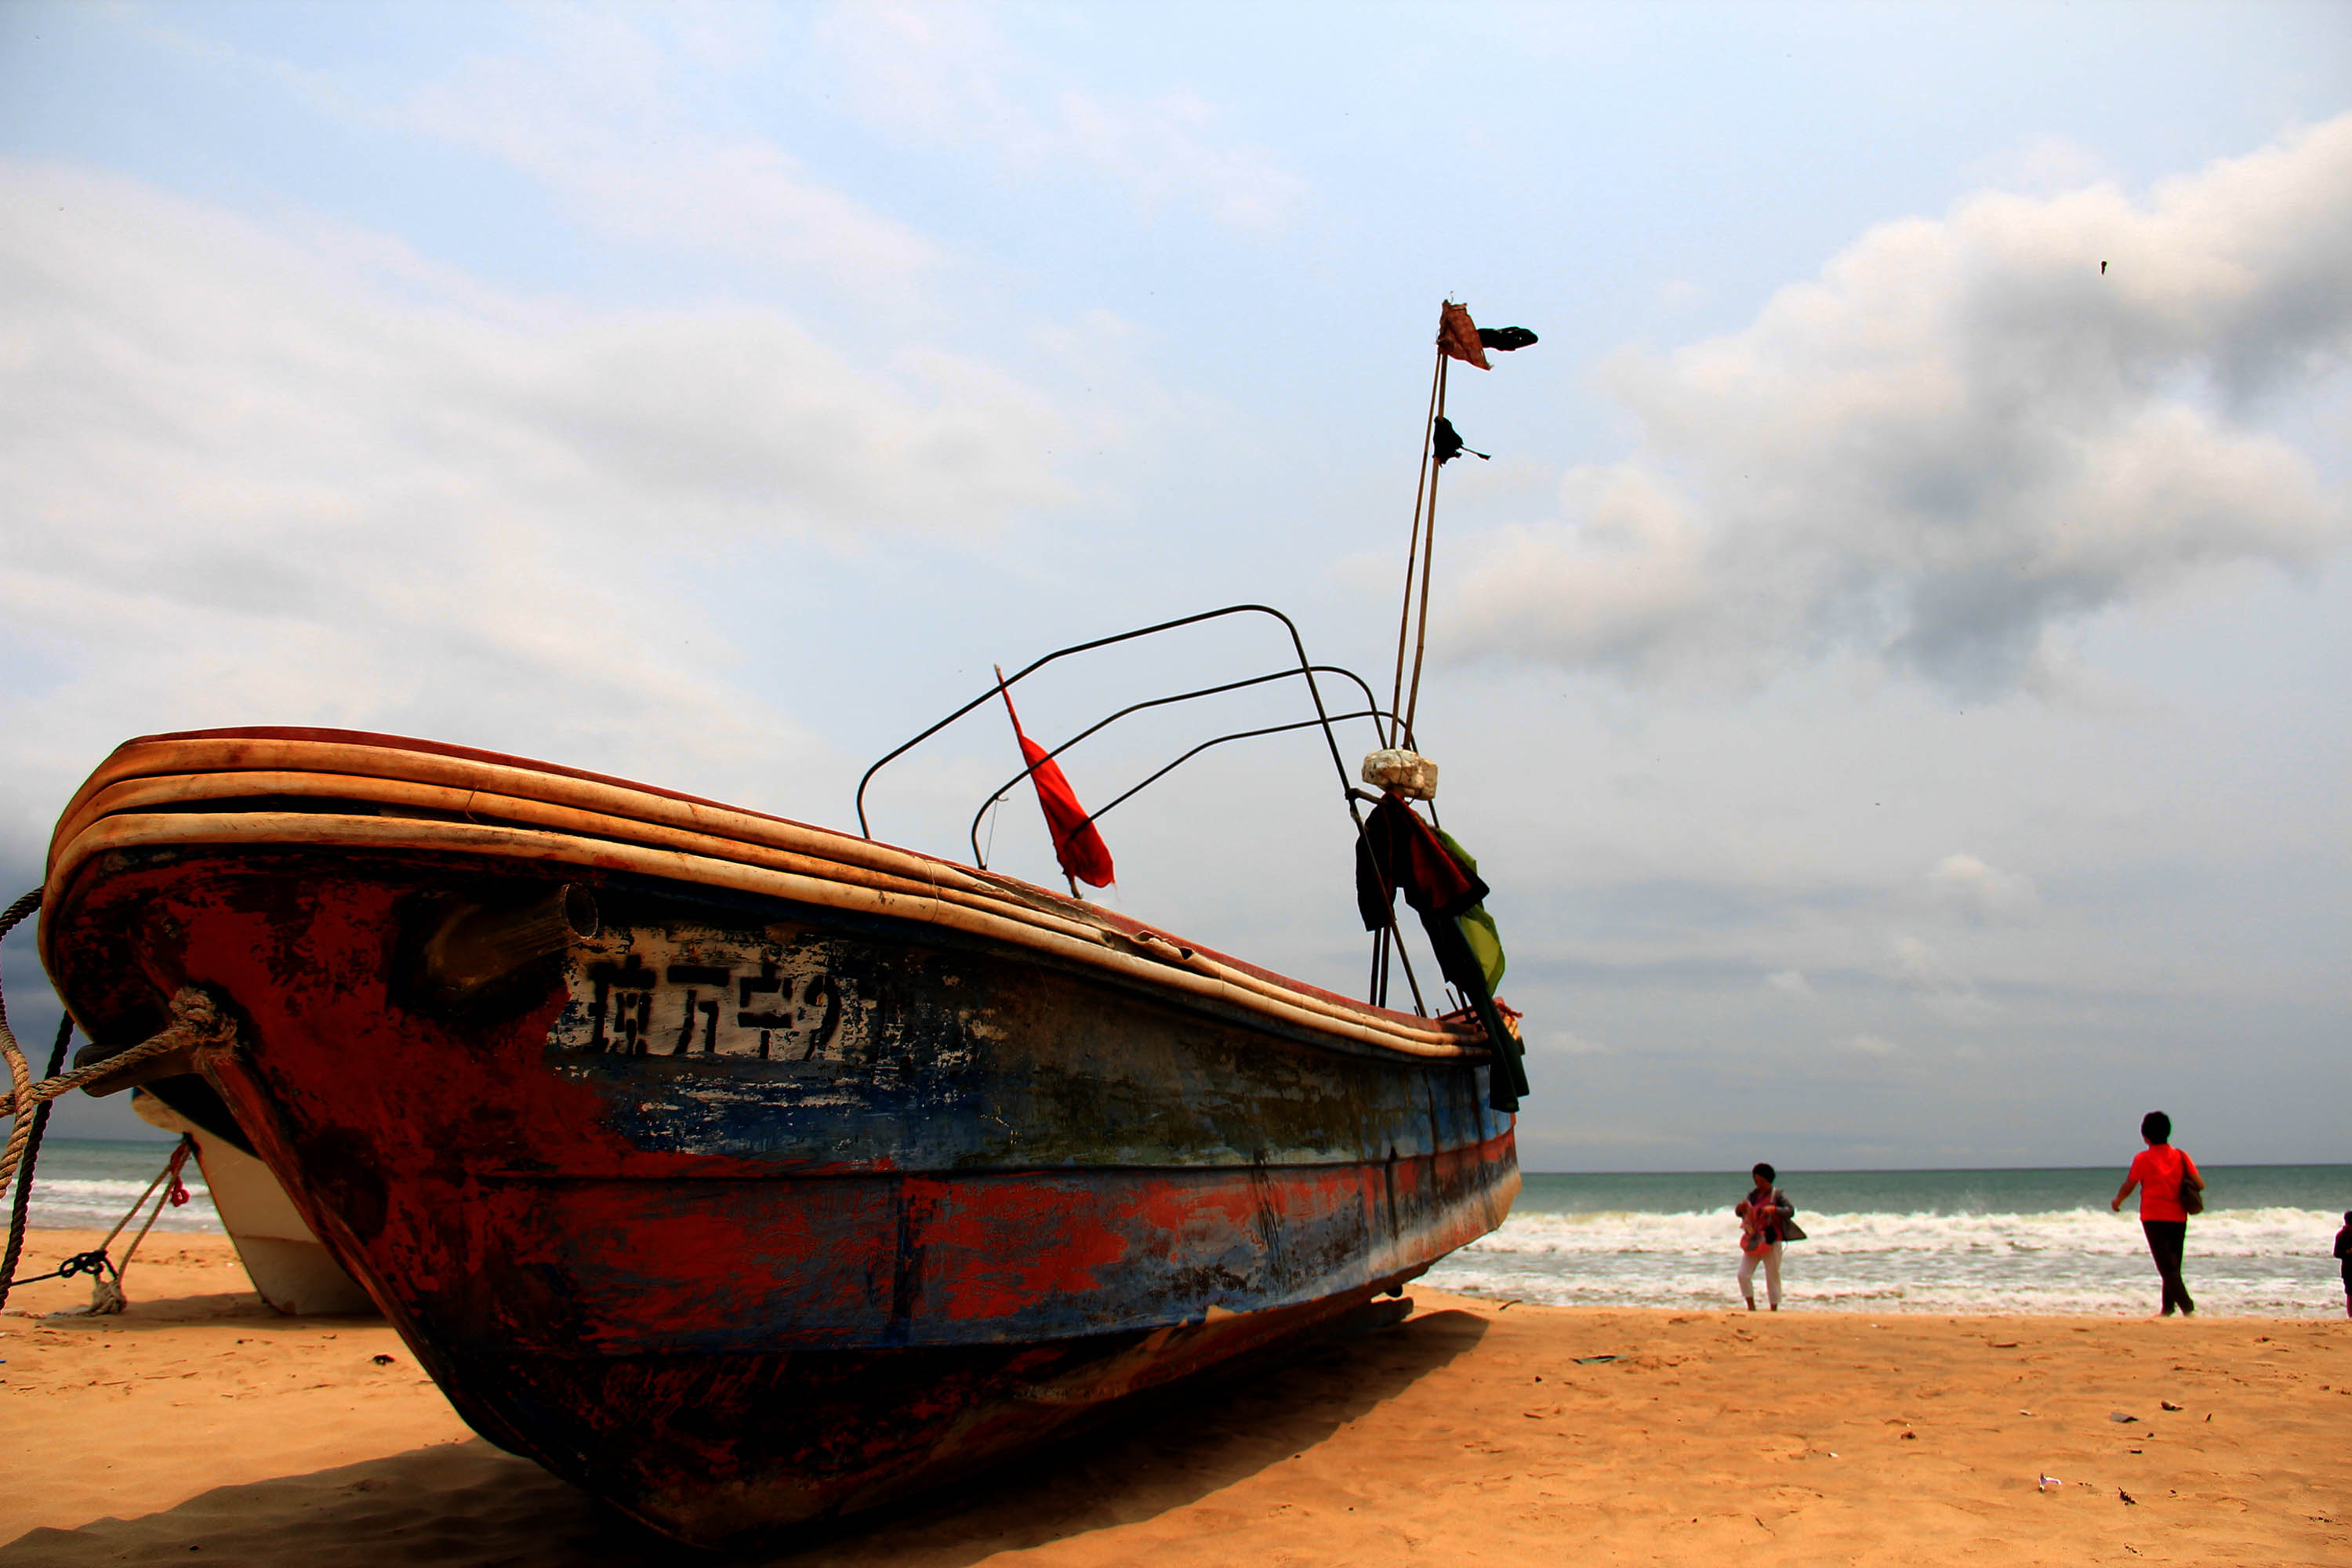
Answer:
[[2056, 628], [2343, 541], [2343, 491], [2258, 421], [2340, 395], [2345, 277], [2352, 115], [2143, 200], [1983, 193], [1875, 228], [1745, 331], [1621, 353], [1642, 449], [1484, 541], [1449, 654], [2049, 679]]

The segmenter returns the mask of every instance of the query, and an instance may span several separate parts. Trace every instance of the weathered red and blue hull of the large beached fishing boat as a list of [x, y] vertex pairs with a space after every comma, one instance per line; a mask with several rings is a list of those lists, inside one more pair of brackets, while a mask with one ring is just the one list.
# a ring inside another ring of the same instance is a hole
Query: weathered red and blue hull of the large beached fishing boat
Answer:
[[96, 1088], [198, 1074], [477, 1432], [706, 1544], [1390, 1307], [1519, 1187], [1470, 1018], [423, 741], [122, 745], [40, 943]]

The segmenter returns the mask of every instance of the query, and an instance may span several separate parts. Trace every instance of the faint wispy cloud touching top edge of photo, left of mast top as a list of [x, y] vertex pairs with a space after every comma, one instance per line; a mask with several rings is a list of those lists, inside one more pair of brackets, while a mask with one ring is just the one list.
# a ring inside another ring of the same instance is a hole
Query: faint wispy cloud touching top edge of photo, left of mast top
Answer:
[[1190, 207], [1242, 230], [1279, 228], [1308, 193], [1228, 134], [1200, 94], [1115, 96], [1051, 80], [976, 7], [842, 5], [816, 35], [870, 125], [978, 150], [1023, 181], [1094, 172], [1145, 214]]

